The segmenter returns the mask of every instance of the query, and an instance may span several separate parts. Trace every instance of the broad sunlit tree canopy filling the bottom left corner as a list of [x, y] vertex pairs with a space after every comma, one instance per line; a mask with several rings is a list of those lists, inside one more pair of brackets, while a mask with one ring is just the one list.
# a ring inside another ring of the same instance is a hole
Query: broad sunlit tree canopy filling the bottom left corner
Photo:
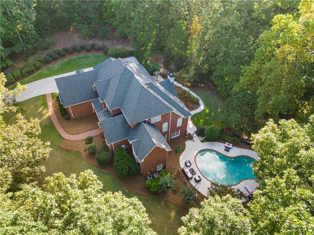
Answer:
[[91, 170], [78, 177], [56, 173], [46, 178], [43, 190], [24, 185], [11, 202], [1, 202], [0, 215], [5, 219], [0, 226], [5, 234], [156, 234], [136, 197], [103, 192]]

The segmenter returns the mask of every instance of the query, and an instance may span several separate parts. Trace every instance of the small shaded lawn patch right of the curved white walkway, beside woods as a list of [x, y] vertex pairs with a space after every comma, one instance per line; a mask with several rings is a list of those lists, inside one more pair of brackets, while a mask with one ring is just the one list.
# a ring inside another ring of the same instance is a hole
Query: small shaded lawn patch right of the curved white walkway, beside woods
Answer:
[[218, 95], [197, 89], [192, 91], [204, 102], [204, 109], [191, 117], [191, 121], [195, 126], [210, 126], [215, 120], [224, 120], [224, 101]]

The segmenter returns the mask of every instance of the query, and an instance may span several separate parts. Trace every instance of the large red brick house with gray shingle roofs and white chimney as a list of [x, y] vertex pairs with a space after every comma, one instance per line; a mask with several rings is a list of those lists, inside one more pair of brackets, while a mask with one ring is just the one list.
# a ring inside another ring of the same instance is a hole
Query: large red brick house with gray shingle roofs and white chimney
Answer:
[[171, 72], [157, 82], [134, 57], [108, 58], [93, 70], [55, 81], [67, 114], [95, 112], [112, 154], [125, 148], [143, 176], [165, 169], [168, 142], [186, 135], [192, 114], [178, 99]]

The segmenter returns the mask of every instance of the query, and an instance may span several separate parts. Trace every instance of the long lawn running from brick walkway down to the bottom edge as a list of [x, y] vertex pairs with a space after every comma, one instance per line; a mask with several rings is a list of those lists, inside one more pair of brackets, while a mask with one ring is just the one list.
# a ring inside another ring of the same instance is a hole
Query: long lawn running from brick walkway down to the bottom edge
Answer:
[[[56, 94], [53, 94], [53, 97], [55, 97], [55, 95]], [[177, 233], [177, 229], [182, 225], [181, 217], [183, 215], [176, 206], [155, 197], [141, 196], [127, 191], [113, 175], [86, 163], [79, 152], [67, 151], [59, 147], [63, 138], [57, 132], [50, 119], [45, 95], [23, 101], [22, 107], [24, 107], [26, 111], [23, 113], [26, 119], [29, 120], [31, 117], [34, 117], [41, 120], [40, 126], [42, 132], [39, 137], [42, 141], [49, 141], [51, 143], [52, 151], [50, 156], [43, 162], [46, 166], [46, 172], [44, 172], [38, 180], [40, 185], [43, 183], [45, 177], [51, 176], [55, 172], [63, 172], [65, 175], [69, 176], [73, 173], [79, 174], [84, 170], [91, 169], [98, 175], [98, 179], [103, 183], [104, 191], [122, 191], [127, 197], [136, 196], [142, 201], [149, 215], [149, 219], [152, 221], [151, 228], [158, 234]], [[4, 120], [8, 124], [14, 123], [15, 115], [12, 113], [5, 114]]]

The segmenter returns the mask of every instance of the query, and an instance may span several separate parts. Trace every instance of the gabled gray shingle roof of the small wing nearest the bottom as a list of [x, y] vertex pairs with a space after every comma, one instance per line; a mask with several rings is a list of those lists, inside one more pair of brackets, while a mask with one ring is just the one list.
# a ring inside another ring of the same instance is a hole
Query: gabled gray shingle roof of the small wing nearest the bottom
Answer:
[[155, 146], [171, 150], [158, 128], [150, 123], [138, 123], [130, 130], [128, 138], [140, 162]]

